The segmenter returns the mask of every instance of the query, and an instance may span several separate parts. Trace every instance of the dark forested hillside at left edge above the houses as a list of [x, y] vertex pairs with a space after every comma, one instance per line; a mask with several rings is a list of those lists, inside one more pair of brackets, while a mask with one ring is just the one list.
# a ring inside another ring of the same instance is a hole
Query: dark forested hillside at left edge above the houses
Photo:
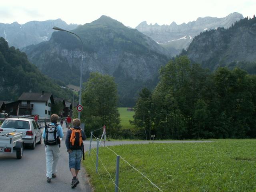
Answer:
[[72, 98], [70, 90], [60, 88], [28, 61], [24, 52], [9, 47], [0, 37], [0, 100], [16, 100], [23, 92], [51, 92], [61, 98]]

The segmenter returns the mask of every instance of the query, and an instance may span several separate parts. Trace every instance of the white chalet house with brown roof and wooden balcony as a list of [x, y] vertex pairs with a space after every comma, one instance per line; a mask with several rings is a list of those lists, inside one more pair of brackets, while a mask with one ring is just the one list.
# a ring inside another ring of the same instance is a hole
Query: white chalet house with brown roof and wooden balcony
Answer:
[[21, 102], [18, 115], [39, 115], [39, 119], [50, 119], [54, 104], [52, 93], [23, 93], [18, 100]]

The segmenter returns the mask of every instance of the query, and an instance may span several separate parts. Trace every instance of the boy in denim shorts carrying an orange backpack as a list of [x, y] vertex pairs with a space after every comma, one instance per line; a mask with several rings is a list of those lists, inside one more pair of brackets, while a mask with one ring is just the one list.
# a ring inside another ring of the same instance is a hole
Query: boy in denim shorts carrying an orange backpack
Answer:
[[83, 152], [83, 140], [86, 139], [84, 131], [80, 128], [81, 121], [73, 120], [73, 128], [70, 128], [66, 136], [66, 147], [68, 149], [69, 169], [73, 176], [71, 188], [75, 188], [79, 183], [77, 175], [81, 168]]

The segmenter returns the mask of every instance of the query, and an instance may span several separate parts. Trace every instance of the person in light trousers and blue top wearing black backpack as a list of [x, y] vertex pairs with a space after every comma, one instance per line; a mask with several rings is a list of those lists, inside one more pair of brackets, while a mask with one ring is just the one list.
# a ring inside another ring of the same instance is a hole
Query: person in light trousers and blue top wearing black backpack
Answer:
[[42, 137], [45, 144], [46, 177], [47, 182], [56, 177], [56, 167], [60, 156], [60, 138], [63, 137], [63, 130], [57, 124], [58, 115], [52, 114], [51, 124], [46, 125]]

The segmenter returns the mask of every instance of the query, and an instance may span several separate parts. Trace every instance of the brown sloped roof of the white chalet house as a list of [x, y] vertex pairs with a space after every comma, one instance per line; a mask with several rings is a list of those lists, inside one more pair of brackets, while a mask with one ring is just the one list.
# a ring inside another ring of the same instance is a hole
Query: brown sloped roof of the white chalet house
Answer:
[[52, 93], [22, 93], [18, 100], [28, 100], [28, 101], [48, 101], [51, 99], [52, 104], [54, 104]]

